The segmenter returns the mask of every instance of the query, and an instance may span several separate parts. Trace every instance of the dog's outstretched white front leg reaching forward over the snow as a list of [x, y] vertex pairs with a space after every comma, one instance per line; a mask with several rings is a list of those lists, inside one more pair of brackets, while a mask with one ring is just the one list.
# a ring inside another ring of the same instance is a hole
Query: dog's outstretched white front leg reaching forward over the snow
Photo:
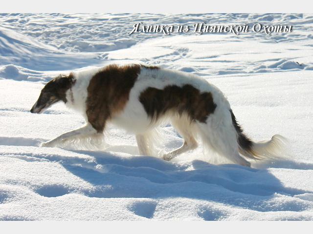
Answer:
[[81, 127], [79, 129], [67, 132], [65, 134], [62, 134], [59, 137], [56, 137], [53, 140], [49, 140], [47, 142], [44, 142], [41, 144], [41, 147], [54, 147], [56, 146], [58, 143], [60, 143], [61, 141], [65, 141], [69, 138], [72, 137], [87, 137], [93, 134], [96, 134], [97, 131], [92, 127], [91, 124], [87, 124], [84, 127]]

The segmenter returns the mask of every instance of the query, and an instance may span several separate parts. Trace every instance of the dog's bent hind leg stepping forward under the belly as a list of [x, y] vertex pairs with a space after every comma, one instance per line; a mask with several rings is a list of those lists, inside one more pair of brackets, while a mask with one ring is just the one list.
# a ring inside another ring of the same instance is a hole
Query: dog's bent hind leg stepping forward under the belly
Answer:
[[176, 118], [172, 120], [172, 125], [178, 131], [179, 135], [184, 138], [184, 143], [178, 149], [163, 155], [163, 159], [167, 161], [198, 147], [198, 143], [193, 136], [192, 126], [188, 119]]

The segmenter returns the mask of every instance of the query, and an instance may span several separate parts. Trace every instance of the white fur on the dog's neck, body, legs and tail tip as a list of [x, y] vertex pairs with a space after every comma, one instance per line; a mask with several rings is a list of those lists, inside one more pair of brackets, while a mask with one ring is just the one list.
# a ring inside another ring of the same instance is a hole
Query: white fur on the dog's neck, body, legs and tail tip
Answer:
[[[85, 117], [87, 124], [80, 129], [48, 141], [43, 146], [55, 146], [72, 137], [83, 138], [97, 135], [96, 130], [88, 123], [86, 115], [87, 88], [90, 79], [97, 71], [98, 69], [89, 69], [74, 72], [73, 75], [76, 82], [67, 91], [67, 107], [81, 113]], [[166, 116], [157, 119], [157, 121], [151, 121], [151, 118], [147, 115], [139, 101], [140, 93], [148, 87], [163, 89], [168, 85], [183, 86], [184, 84], [191, 84], [201, 92], [210, 92], [212, 94], [216, 109], [213, 114], [209, 115], [206, 123], [199, 121], [190, 123], [188, 116], [179, 116], [173, 112], [168, 112]], [[196, 148], [198, 144], [195, 138], [200, 137], [204, 146], [212, 149], [218, 155], [224, 156], [228, 161], [249, 166], [249, 162], [238, 152], [237, 133], [229, 110], [230, 104], [223, 93], [217, 87], [198, 76], [169, 69], [147, 69], [141, 67], [140, 74], [134, 83], [134, 87], [131, 89], [129, 101], [123, 111], [118, 116], [112, 118], [111, 121], [113, 124], [136, 135], [141, 155], [155, 154], [155, 129], [160, 124], [170, 121], [184, 138], [184, 144], [179, 149], [164, 155], [164, 159], [170, 160], [183, 152]], [[282, 139], [278, 138], [273, 137], [271, 141], [264, 143], [253, 143], [253, 149], [260, 157], [277, 155], [275, 151], [281, 145], [278, 141]]]

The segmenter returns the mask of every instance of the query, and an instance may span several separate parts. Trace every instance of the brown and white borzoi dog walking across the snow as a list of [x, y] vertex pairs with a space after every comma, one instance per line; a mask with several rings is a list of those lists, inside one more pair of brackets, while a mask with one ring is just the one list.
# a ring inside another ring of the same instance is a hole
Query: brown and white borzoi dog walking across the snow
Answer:
[[135, 134], [140, 155], [152, 156], [152, 133], [166, 121], [184, 142], [163, 155], [165, 160], [195, 149], [200, 138], [219, 156], [249, 167], [247, 159], [276, 157], [284, 144], [279, 135], [251, 141], [217, 87], [198, 76], [156, 66], [108, 65], [60, 75], [45, 85], [30, 112], [43, 113], [59, 101], [80, 112], [86, 125], [43, 143], [44, 147], [103, 134], [112, 122]]

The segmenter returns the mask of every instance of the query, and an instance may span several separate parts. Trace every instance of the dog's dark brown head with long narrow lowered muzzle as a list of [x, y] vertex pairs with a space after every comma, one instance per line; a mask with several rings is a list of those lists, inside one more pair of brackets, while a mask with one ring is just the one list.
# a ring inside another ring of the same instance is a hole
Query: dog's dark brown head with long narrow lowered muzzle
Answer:
[[42, 89], [40, 96], [36, 103], [31, 108], [31, 113], [43, 113], [51, 105], [64, 101], [67, 102], [66, 92], [71, 88], [75, 79], [72, 74], [65, 76], [60, 75], [50, 80]]

